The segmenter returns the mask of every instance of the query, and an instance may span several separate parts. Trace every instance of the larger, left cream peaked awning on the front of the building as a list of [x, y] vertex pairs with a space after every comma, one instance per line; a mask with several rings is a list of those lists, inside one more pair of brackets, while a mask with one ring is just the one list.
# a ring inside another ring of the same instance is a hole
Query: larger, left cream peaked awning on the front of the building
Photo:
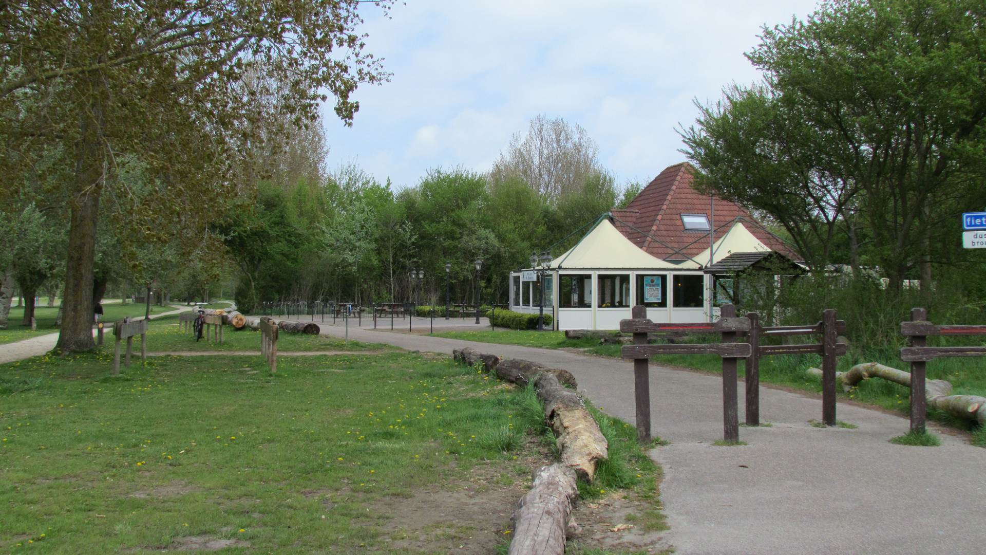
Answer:
[[[748, 233], [748, 232], [747, 232]], [[706, 249], [708, 251], [708, 249]], [[706, 252], [708, 258], [708, 252]], [[695, 260], [702, 259], [696, 257]], [[609, 221], [602, 218], [599, 223], [579, 243], [551, 262], [553, 269], [598, 269], [598, 270], [694, 270], [701, 265], [694, 261], [673, 264], [651, 256], [634, 245]]]

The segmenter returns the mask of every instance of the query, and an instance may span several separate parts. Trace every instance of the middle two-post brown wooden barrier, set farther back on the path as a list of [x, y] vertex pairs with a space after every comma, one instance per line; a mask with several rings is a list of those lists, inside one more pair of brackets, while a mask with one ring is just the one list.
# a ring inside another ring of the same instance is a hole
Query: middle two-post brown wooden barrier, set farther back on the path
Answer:
[[[837, 343], [838, 335], [846, 331], [845, 320], [835, 319], [835, 310], [822, 312], [821, 322], [813, 326], [760, 326], [756, 312], [746, 314], [749, 331], [746, 341], [750, 355], [746, 357], [746, 426], [760, 426], [760, 357], [764, 355], [821, 355], [821, 420], [835, 426], [835, 366], [836, 357], [846, 354], [847, 347]], [[810, 345], [760, 345], [760, 339], [773, 336], [820, 335], [821, 343]]]

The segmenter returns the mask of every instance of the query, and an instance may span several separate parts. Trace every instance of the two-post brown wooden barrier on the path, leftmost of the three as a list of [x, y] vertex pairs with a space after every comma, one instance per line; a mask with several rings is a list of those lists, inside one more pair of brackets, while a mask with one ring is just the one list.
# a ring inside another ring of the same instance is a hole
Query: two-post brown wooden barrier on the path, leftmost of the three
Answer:
[[[623, 358], [633, 358], [634, 393], [637, 408], [637, 438], [651, 440], [651, 389], [649, 365], [654, 355], [700, 355], [723, 357], [723, 437], [740, 440], [739, 400], [737, 398], [737, 359], [750, 356], [748, 343], [736, 343], [737, 333], [749, 331], [749, 319], [737, 318], [732, 304], [722, 307], [722, 318], [695, 324], [657, 324], [647, 318], [647, 308], [633, 307], [633, 319], [620, 320], [619, 329], [633, 334], [633, 345], [624, 345]], [[720, 344], [647, 345], [647, 334], [667, 332], [704, 332], [722, 334]]]

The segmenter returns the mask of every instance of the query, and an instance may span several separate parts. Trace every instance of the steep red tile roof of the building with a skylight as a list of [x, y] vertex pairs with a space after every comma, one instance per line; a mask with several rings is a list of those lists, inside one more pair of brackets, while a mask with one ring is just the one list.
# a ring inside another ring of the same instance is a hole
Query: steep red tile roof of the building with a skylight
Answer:
[[[687, 162], [669, 166], [654, 178], [626, 208], [612, 210], [616, 229], [641, 249], [661, 259], [685, 259], [709, 248], [709, 233], [687, 231], [679, 214], [709, 214], [709, 197], [691, 184], [695, 168]], [[802, 260], [791, 247], [763, 229], [739, 204], [715, 198], [712, 228], [721, 238], [738, 218], [770, 249], [792, 260]], [[705, 264], [708, 261], [696, 261]]]

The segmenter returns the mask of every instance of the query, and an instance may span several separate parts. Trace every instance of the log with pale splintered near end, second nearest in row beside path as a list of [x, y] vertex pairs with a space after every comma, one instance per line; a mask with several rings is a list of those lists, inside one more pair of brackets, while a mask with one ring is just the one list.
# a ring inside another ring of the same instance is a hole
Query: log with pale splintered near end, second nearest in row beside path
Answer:
[[596, 463], [606, 458], [609, 444], [586, 402], [550, 372], [537, 375], [534, 390], [544, 404], [544, 420], [558, 438], [562, 464], [592, 482]]

